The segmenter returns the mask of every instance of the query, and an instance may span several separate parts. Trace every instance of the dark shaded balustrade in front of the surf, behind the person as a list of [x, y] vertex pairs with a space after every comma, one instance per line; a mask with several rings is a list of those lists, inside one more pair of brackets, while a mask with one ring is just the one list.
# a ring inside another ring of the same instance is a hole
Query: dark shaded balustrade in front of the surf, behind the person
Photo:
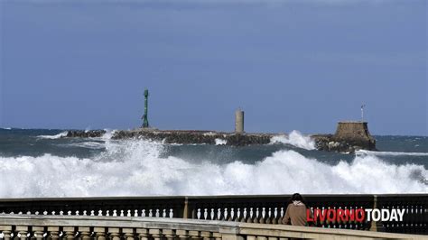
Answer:
[[[289, 195], [128, 197], [128, 198], [16, 198], [0, 199], [0, 213], [98, 217], [164, 217], [282, 224]], [[305, 195], [309, 207], [405, 208], [403, 222], [329, 222], [324, 228], [428, 234], [428, 194]]]

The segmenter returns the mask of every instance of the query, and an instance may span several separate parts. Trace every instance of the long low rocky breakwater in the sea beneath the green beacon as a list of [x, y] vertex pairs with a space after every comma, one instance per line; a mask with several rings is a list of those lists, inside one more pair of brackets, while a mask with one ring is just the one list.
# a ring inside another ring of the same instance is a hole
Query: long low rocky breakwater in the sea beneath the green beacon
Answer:
[[[362, 128], [364, 129], [364, 127]], [[337, 131], [336, 134], [313, 134], [315, 147], [329, 152], [355, 152], [360, 149], [376, 150], [376, 141], [368, 132], [349, 134], [348, 130]], [[353, 130], [351, 130], [353, 131]], [[65, 137], [101, 137], [104, 130], [79, 131], [71, 130]], [[179, 131], [137, 129], [116, 131], [112, 139], [148, 139], [162, 143], [180, 144], [217, 144], [224, 143], [230, 146], [247, 146], [271, 143], [271, 138], [282, 134], [235, 134], [213, 131]]]

